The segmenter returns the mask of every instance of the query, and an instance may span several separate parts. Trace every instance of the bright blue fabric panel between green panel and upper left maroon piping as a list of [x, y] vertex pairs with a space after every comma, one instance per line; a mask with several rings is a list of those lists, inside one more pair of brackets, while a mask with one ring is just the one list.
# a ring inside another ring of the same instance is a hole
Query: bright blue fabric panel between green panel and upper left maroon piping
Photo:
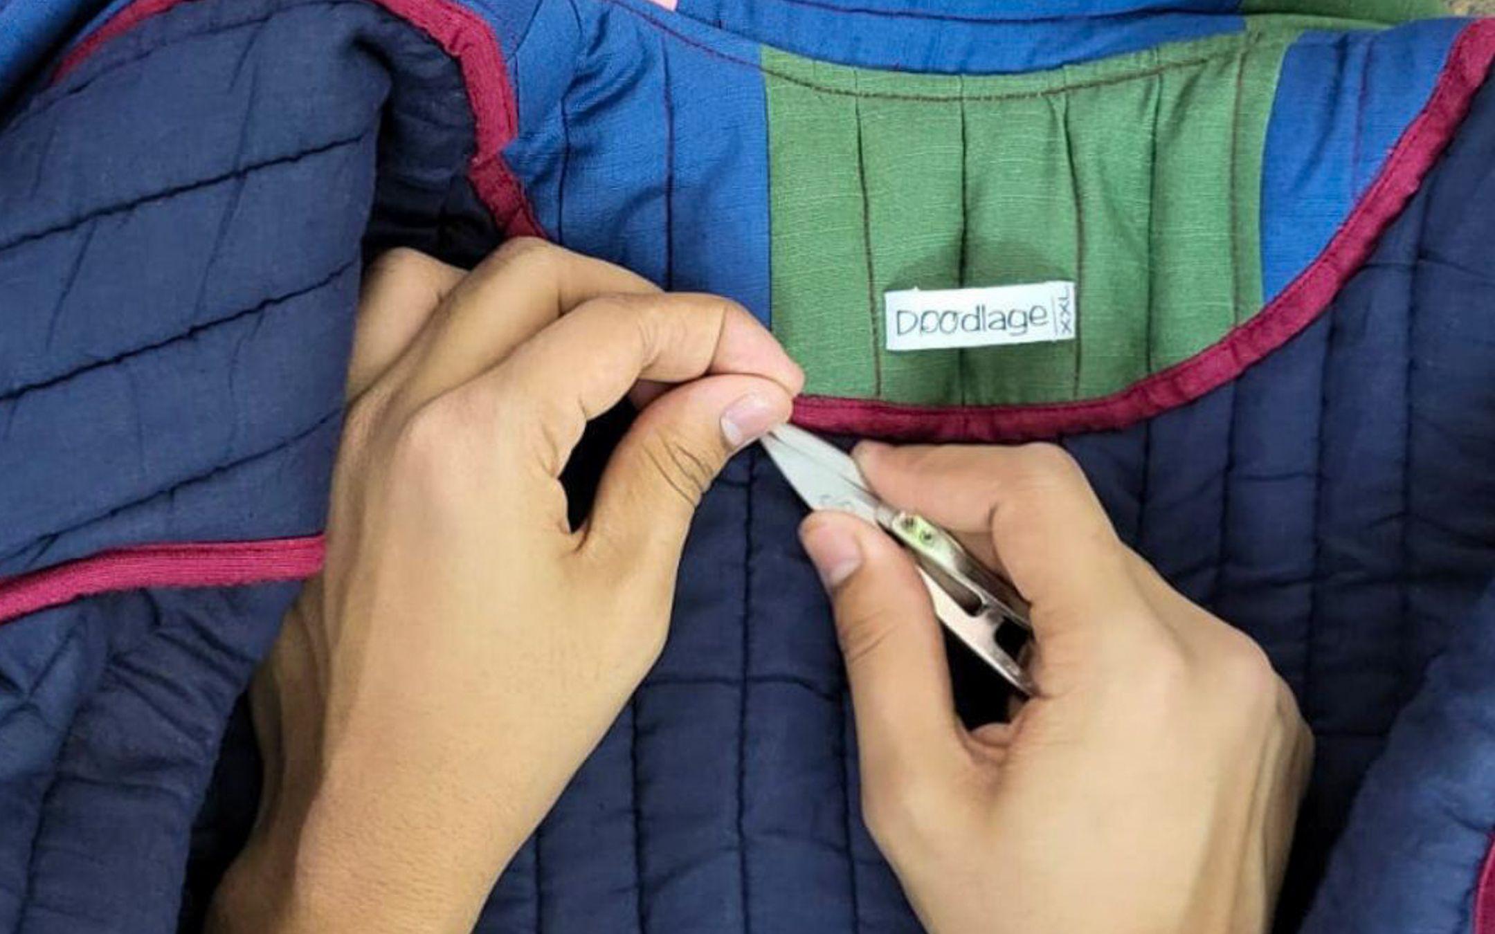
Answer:
[[[508, 161], [561, 244], [667, 288], [727, 294], [767, 321], [758, 49], [715, 36], [715, 48], [740, 61], [725, 60], [701, 43], [703, 27], [673, 19], [661, 28], [653, 12], [541, 6], [513, 63], [523, 132]], [[574, 73], [556, 67], [573, 60]]]

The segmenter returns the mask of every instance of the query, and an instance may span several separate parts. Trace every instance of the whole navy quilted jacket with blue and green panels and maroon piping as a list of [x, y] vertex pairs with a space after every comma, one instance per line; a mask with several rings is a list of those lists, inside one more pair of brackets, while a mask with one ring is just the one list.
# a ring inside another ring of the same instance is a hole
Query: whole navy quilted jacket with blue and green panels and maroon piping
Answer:
[[[537, 235], [743, 302], [804, 426], [1060, 441], [1314, 728], [1280, 930], [1495, 934], [1492, 60], [1420, 0], [0, 0], [0, 930], [200, 924], [363, 262]], [[887, 348], [1038, 281], [1076, 339]], [[480, 931], [918, 930], [800, 517], [728, 466]]]

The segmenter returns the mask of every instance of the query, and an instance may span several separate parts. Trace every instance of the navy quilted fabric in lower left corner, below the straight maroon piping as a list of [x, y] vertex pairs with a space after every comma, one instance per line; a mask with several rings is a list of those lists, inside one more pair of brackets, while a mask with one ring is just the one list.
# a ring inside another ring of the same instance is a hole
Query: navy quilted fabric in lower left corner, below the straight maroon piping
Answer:
[[218, 735], [296, 590], [106, 595], [4, 631], [0, 925], [175, 927]]

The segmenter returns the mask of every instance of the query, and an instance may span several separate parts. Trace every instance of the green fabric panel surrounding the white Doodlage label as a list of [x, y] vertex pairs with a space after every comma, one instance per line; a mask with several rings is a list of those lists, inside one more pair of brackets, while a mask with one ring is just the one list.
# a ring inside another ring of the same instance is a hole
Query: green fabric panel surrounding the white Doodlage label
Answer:
[[[764, 49], [773, 329], [807, 392], [1087, 399], [1260, 311], [1260, 160], [1296, 34], [964, 78]], [[882, 350], [887, 290], [1045, 279], [1078, 281], [1078, 341]]]

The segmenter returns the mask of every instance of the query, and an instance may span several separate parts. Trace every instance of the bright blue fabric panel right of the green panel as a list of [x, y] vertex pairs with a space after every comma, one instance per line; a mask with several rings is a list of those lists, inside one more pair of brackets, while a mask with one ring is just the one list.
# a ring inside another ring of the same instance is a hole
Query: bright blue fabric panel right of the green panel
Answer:
[[1328, 247], [1432, 93], [1464, 19], [1310, 31], [1287, 49], [1262, 164], [1268, 300]]

